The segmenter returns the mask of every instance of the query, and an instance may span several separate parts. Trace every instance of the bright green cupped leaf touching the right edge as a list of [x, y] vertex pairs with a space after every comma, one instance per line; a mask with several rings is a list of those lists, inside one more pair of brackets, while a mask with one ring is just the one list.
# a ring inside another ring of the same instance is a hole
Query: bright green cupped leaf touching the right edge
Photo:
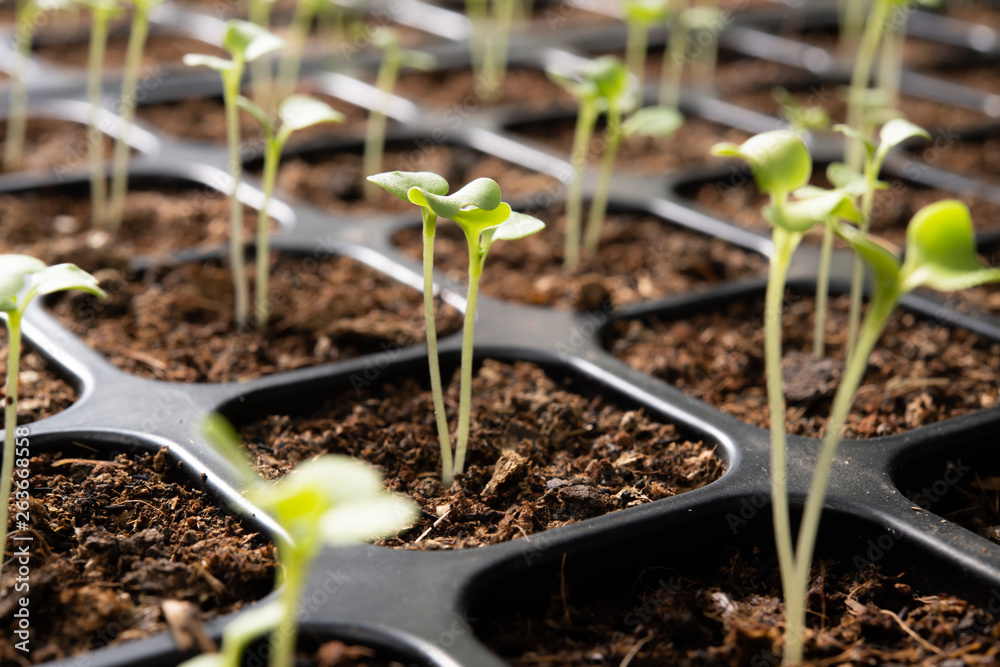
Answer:
[[968, 207], [954, 199], [923, 207], [906, 228], [903, 289], [926, 285], [944, 292], [1000, 280], [1000, 269], [984, 265]]

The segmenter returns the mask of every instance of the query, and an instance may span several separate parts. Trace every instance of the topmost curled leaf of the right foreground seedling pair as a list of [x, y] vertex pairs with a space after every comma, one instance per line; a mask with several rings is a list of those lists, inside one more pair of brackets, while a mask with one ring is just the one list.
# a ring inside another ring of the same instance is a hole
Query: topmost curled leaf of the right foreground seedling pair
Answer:
[[797, 134], [787, 130], [764, 132], [740, 145], [716, 144], [712, 154], [746, 160], [757, 187], [771, 195], [798, 190], [812, 175], [809, 149]]

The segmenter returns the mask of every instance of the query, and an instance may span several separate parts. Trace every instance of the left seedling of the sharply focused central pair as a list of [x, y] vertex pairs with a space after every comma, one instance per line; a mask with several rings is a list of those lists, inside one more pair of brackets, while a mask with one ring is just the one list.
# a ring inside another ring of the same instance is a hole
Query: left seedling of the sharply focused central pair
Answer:
[[[437, 420], [438, 442], [441, 446], [441, 479], [445, 486], [451, 486], [455, 465], [451, 454], [451, 437], [448, 433], [448, 415], [444, 410], [444, 391], [441, 384], [441, 364], [438, 360], [437, 325], [434, 321], [434, 235], [437, 228], [437, 214], [430, 206], [421, 205], [426, 194], [448, 194], [448, 181], [428, 171], [392, 171], [368, 177], [374, 183], [396, 197], [420, 207], [423, 218], [424, 240], [424, 328], [427, 337], [427, 363], [431, 375], [431, 395], [434, 399], [434, 417]], [[410, 191], [423, 192], [417, 201], [410, 199]]]

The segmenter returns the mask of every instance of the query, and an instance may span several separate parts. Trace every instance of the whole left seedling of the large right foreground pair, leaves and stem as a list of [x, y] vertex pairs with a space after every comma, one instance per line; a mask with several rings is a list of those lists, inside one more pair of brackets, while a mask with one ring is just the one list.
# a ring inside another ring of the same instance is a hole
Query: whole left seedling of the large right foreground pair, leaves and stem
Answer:
[[[767, 374], [768, 409], [771, 419], [771, 498], [778, 563], [788, 617], [788, 655], [801, 658], [805, 599], [794, 588], [795, 553], [792, 551], [791, 519], [786, 482], [785, 397], [781, 375], [782, 299], [792, 255], [803, 234], [832, 217], [857, 218], [849, 195], [839, 190], [809, 189], [806, 197], [789, 200], [789, 194], [809, 183], [812, 157], [794, 132], [777, 130], [751, 137], [742, 145], [717, 144], [716, 155], [738, 157], [749, 163], [761, 192], [770, 197], [764, 217], [772, 226], [773, 250], [764, 304], [764, 363]], [[798, 645], [796, 644], [798, 642]]]

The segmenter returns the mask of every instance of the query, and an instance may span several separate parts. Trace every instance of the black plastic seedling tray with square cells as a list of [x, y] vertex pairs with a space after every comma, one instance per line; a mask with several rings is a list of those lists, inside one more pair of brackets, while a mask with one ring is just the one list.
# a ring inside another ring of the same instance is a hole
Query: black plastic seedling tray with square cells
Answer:
[[[416, 17], [417, 22], [420, 17], [426, 19], [419, 3], [405, 3], [405, 7], [403, 15]], [[436, 12], [443, 10], [429, 11], [438, 16]], [[826, 9], [823, 12], [828, 13]], [[823, 12], [813, 19], [827, 20]], [[804, 16], [809, 19], [811, 15]], [[164, 21], [170, 27], [187, 25], [182, 15], [168, 13], [167, 17]], [[462, 25], [459, 17], [452, 18], [455, 25]], [[767, 44], [774, 42], [758, 30], [773, 26], [778, 18], [766, 13], [741, 17], [724, 42], [730, 48], [742, 48], [759, 56], [761, 53], [756, 51], [765, 50]], [[210, 21], [205, 25], [208, 24]], [[515, 63], [544, 68], [553, 63], [572, 63], [588, 48], [599, 50], [607, 44], [617, 47], [624, 44], [624, 33], [618, 26], [597, 29], [596, 33], [591, 29], [573, 29], [551, 37], [546, 35], [545, 43], [537, 35], [529, 34], [518, 43], [520, 48], [514, 50]], [[948, 34], [953, 43], [962, 42], [957, 32]], [[784, 50], [774, 54], [779, 61], [789, 58], [791, 53], [787, 44], [780, 46]], [[465, 48], [459, 42], [445, 43], [433, 50], [438, 52], [441, 66], [450, 67], [466, 64]], [[797, 53], [801, 55], [801, 51]], [[361, 57], [351, 67], [362, 71], [373, 63], [370, 57], [367, 60]], [[319, 90], [335, 96], [370, 92], [364, 84], [344, 74], [321, 74], [324, 66], [311, 62], [305, 68], [307, 75], [315, 75]], [[822, 67], [811, 69], [813, 74], [832, 72], [823, 71]], [[86, 119], [86, 106], [79, 101], [82, 99], [79, 76], [60, 75], [44, 82], [35, 92], [36, 112], [76, 122]], [[175, 72], [165, 76], [162, 85], [151, 91], [149, 101], [218, 94], [212, 76]], [[352, 99], [358, 101], [356, 97]], [[689, 114], [747, 132], [778, 125], [774, 118], [748, 112], [710, 95], [687, 94], [683, 106]], [[526, 119], [544, 120], [565, 114], [565, 109], [530, 113], [509, 107], [486, 109], [471, 114], [457, 128], [442, 130], [433, 112], [397, 100], [390, 112], [396, 120], [391, 140], [407, 142], [433, 136], [438, 143], [468, 146], [565, 181], [570, 171], [566, 156], [554, 155], [551, 150], [525, 142], [509, 130]], [[136, 179], [182, 180], [206, 190], [224, 182], [219, 180], [226, 160], [222, 146], [179, 141], [148, 126], [141, 126], [132, 139], [137, 151], [132, 163]], [[818, 159], [834, 159], [839, 150], [837, 140], [821, 136], [813, 141]], [[325, 146], [324, 150], [331, 148], [356, 150], [357, 143], [343, 141]], [[252, 161], [255, 156], [245, 157]], [[616, 176], [612, 188], [612, 207], [649, 213], [672, 224], [722, 238], [749, 252], [767, 255], [771, 246], [766, 237], [715, 219], [678, 194], [678, 188], [686, 182], [725, 177], [726, 172], [715, 167], [686, 170], [683, 175], [622, 174]], [[961, 178], [935, 170], [926, 170], [922, 177], [927, 184], [946, 189], [964, 190], [969, 185]], [[82, 187], [85, 175], [77, 170], [0, 177], [0, 190], [6, 193], [53, 184]], [[241, 190], [241, 196], [252, 206], [262, 200], [255, 186], [251, 178]], [[976, 188], [983, 196], [1000, 201], [996, 188], [984, 184], [976, 184]], [[526, 197], [521, 203], [558, 202], [561, 196], [561, 189], [556, 189]], [[376, 219], [335, 216], [281, 196], [278, 199], [272, 211], [281, 225], [273, 240], [275, 250], [304, 257], [353, 257], [419, 289], [419, 265], [391, 240], [399, 230], [418, 225], [419, 218], [410, 214]], [[790, 280], [793, 287], [808, 289], [813, 284], [817, 264], [813, 252], [806, 247], [797, 256]], [[221, 253], [222, 249], [179, 253], [174, 261], [197, 261], [199, 257]], [[135, 268], [141, 270], [142, 266], [140, 261]], [[838, 254], [834, 284], [842, 289], [849, 273], [848, 258]], [[447, 303], [459, 309], [464, 307], [461, 285], [444, 279], [439, 285]], [[759, 547], [770, 553], [773, 547], [767, 431], [751, 427], [629, 367], [601, 343], [604, 333], [617, 320], [683, 316], [733, 300], [752, 299], [763, 290], [763, 279], [751, 279], [678, 294], [655, 303], [636, 303], [613, 312], [595, 313], [513, 305], [482, 296], [477, 359], [533, 361], [553, 375], [570, 377], [596, 389], [613, 402], [642, 407], [658, 418], [676, 423], [687, 435], [717, 445], [725, 460], [725, 474], [695, 491], [481, 549], [420, 552], [369, 545], [327, 549], [315, 564], [307, 586], [309, 596], [300, 616], [303, 642], [340, 639], [360, 643], [406, 665], [500, 666], [505, 662], [477, 639], [477, 628], [481, 628], [477, 623], [482, 623], [495, 609], [516, 609], [523, 600], [537, 597], [539, 590], [558, 581], [561, 567], [568, 568], [570, 576], [616, 582], [610, 574], [616, 568], [629, 571], [629, 567], [654, 558], [683, 568], [685, 564], [718, 558], [718, 554], [732, 546]], [[995, 317], [955, 313], [944, 307], [943, 299], [933, 296], [909, 297], [904, 306], [920, 317], [969, 328], [1000, 341], [1000, 321]], [[36, 350], [80, 388], [80, 398], [71, 408], [29, 425], [35, 452], [65, 453], [79, 445], [97, 452], [96, 456], [110, 457], [119, 452], [167, 447], [175, 460], [183, 462], [192, 484], [207, 488], [220, 501], [244, 507], [251, 513], [251, 524], [271, 533], [280, 528], [247, 505], [240, 493], [237, 473], [205, 443], [199, 431], [203, 418], [218, 411], [240, 423], [282, 404], [330, 395], [350, 387], [352, 379], [358, 376], [370, 374], [377, 384], [399, 376], [419, 377], [426, 372], [426, 352], [418, 346], [399, 350], [391, 359], [372, 355], [242, 383], [171, 384], [142, 379], [114, 368], [63, 329], [41, 305], [30, 310], [25, 334]], [[440, 346], [448, 372], [458, 363], [459, 335], [442, 339]], [[858, 554], [869, 559], [877, 556], [886, 565], [907, 570], [918, 583], [933, 584], [935, 590], [949, 590], [993, 611], [1000, 604], [1000, 545], [942, 519], [933, 506], [915, 511], [913, 501], [902, 490], [933, 485], [949, 463], [958, 459], [977, 461], [984, 468], [995, 467], [996, 456], [991, 448], [998, 428], [1000, 408], [994, 407], [899, 435], [843, 442], [826, 502], [819, 554], [847, 559]], [[790, 439], [788, 481], [793, 507], [801, 507], [816, 449], [815, 440]], [[82, 447], [80, 451], [84, 451]], [[209, 623], [209, 635], [218, 640], [228, 620], [223, 617]], [[251, 652], [262, 657], [265, 649], [257, 645]], [[170, 636], [164, 634], [51, 664], [69, 667], [85, 659], [88, 664], [100, 667], [155, 667], [175, 665], [184, 657], [189, 656], [182, 655]], [[253, 657], [248, 657], [248, 664], [256, 664]]]

